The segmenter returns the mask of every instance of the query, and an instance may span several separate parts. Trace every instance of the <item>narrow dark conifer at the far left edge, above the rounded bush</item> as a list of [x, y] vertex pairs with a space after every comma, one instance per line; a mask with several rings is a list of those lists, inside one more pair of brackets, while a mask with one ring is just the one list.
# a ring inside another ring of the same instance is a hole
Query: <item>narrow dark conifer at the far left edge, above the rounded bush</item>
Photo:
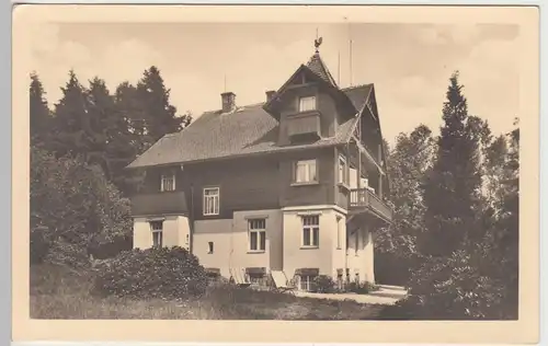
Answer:
[[43, 142], [48, 134], [50, 111], [45, 99], [45, 91], [38, 74], [31, 73], [30, 85], [30, 127], [31, 142]]

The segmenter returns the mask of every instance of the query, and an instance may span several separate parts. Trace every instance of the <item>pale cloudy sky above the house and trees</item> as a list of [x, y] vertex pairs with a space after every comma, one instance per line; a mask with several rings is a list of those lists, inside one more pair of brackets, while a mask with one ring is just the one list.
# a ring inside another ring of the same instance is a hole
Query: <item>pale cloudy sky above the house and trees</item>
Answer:
[[[32, 66], [53, 106], [73, 69], [80, 82], [98, 76], [114, 92], [157, 66], [179, 113], [263, 102], [315, 51], [341, 86], [374, 83], [389, 143], [419, 124], [437, 132], [448, 79], [459, 71], [469, 113], [494, 134], [520, 116], [517, 25], [412, 23], [41, 23], [32, 31]], [[350, 42], [352, 41], [352, 59]], [[352, 64], [351, 64], [352, 60]], [[351, 68], [352, 66], [352, 68]], [[352, 73], [351, 73], [352, 72]]]

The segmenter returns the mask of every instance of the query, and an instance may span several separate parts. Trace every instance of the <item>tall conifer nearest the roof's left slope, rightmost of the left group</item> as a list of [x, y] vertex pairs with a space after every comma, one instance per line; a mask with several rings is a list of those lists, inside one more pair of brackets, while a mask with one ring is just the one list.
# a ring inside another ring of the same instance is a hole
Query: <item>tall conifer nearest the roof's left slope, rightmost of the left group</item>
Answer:
[[165, 134], [172, 134], [187, 126], [192, 117], [176, 115], [176, 107], [170, 103], [170, 90], [165, 88], [160, 70], [152, 66], [144, 72], [137, 84], [137, 96], [142, 107], [142, 124], [150, 145]]

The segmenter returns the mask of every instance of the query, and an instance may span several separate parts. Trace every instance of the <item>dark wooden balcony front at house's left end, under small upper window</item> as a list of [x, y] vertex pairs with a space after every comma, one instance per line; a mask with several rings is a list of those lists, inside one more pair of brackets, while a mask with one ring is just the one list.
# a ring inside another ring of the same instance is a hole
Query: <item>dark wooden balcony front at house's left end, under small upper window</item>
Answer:
[[138, 194], [132, 197], [133, 216], [186, 215], [184, 192]]

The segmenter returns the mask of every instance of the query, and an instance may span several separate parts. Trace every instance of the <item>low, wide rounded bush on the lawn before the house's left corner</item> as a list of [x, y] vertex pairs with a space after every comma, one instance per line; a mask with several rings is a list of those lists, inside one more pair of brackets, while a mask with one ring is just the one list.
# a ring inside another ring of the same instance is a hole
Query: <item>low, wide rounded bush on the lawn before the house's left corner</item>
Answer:
[[197, 257], [179, 246], [125, 251], [96, 269], [93, 291], [102, 296], [183, 299], [207, 287]]

